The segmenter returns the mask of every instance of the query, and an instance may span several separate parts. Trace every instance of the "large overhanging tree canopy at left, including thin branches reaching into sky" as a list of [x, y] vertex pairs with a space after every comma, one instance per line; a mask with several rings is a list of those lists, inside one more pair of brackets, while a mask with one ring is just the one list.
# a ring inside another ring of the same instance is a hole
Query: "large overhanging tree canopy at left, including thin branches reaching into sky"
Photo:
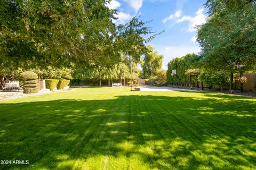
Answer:
[[109, 2], [1, 1], [0, 67], [110, 67], [120, 52], [138, 62], [155, 35], [137, 16], [115, 25]]

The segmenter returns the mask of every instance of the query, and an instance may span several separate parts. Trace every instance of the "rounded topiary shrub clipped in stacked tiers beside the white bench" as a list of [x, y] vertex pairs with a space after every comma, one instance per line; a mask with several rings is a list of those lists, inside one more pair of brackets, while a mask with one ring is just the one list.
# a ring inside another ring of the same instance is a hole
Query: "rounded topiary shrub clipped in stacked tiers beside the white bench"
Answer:
[[34, 94], [39, 90], [37, 74], [32, 71], [25, 71], [20, 73], [21, 86], [23, 93]]

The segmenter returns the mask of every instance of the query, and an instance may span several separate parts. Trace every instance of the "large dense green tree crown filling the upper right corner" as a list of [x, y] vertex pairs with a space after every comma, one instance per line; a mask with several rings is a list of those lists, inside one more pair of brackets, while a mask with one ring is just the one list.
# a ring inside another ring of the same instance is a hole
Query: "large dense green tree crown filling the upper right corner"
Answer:
[[255, 68], [256, 10], [249, 0], [208, 0], [207, 22], [198, 27], [198, 43], [207, 70], [243, 71]]

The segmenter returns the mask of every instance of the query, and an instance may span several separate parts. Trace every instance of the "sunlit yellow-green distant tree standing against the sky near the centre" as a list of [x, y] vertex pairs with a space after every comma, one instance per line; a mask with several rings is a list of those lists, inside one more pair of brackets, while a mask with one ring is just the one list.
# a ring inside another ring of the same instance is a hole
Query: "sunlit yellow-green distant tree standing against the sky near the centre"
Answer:
[[154, 52], [152, 46], [147, 46], [148, 52], [141, 62], [142, 66], [142, 78], [155, 78], [157, 73], [162, 70], [163, 55], [158, 55], [157, 52]]

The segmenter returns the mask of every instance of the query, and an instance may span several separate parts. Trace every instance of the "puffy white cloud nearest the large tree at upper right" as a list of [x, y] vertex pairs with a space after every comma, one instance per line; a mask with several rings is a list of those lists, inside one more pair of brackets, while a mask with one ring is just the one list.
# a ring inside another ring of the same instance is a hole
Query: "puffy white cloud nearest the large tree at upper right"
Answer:
[[176, 22], [180, 23], [183, 21], [189, 21], [188, 31], [196, 31], [196, 25], [201, 25], [205, 23], [206, 16], [203, 14], [204, 8], [200, 8], [194, 17], [184, 15], [182, 18], [178, 19]]

